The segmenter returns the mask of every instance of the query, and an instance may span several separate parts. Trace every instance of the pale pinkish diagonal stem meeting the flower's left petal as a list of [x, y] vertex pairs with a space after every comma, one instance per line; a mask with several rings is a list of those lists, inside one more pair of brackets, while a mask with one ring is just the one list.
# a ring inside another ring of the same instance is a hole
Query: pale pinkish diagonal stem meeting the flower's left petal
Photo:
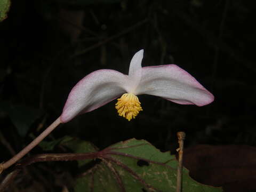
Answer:
[[57, 118], [49, 127], [47, 127], [36, 139], [34, 139], [27, 147], [22, 149], [18, 154], [14, 155], [9, 161], [0, 164], [0, 173], [19, 161], [24, 155], [26, 155], [31, 149], [38, 145], [47, 135], [49, 135], [55, 127], [57, 127], [61, 123], [60, 117]]

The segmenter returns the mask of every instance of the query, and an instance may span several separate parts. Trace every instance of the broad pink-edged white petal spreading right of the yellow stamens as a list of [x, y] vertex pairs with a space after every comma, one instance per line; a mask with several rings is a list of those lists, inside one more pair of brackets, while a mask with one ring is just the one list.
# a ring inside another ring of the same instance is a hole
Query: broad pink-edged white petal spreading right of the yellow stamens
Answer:
[[143, 67], [134, 94], [155, 95], [183, 105], [204, 106], [214, 100], [193, 76], [176, 65]]

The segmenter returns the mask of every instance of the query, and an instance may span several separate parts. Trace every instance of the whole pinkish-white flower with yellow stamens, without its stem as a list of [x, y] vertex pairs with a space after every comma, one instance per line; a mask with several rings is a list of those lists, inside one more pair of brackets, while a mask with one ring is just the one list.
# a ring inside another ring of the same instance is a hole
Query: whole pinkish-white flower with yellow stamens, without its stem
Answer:
[[101, 69], [79, 81], [69, 93], [60, 116], [66, 123], [78, 114], [97, 109], [117, 99], [116, 109], [129, 121], [142, 110], [136, 95], [149, 94], [183, 105], [204, 106], [214, 100], [196, 79], [177, 65], [141, 67], [143, 50], [134, 54], [129, 75]]

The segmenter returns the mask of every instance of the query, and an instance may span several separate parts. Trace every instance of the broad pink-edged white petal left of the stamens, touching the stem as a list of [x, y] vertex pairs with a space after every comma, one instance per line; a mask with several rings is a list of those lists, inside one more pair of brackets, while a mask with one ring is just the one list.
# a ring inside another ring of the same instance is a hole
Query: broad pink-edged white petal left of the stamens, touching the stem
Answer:
[[71, 90], [60, 116], [66, 123], [78, 114], [97, 109], [127, 92], [127, 75], [115, 70], [101, 69], [85, 76]]

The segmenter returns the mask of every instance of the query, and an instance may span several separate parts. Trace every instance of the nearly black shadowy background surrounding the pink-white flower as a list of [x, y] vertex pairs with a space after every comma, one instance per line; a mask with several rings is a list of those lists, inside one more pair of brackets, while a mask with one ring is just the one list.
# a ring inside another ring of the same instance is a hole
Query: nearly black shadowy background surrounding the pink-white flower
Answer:
[[[254, 8], [242, 0], [12, 1], [0, 23], [0, 131], [10, 145], [1, 145], [1, 161], [61, 115], [81, 78], [102, 68], [127, 74], [140, 49], [142, 66], [175, 63], [215, 101], [196, 107], [140, 95], [143, 111], [131, 122], [118, 116], [113, 101], [46, 140], [70, 135], [103, 149], [136, 138], [174, 153], [176, 133], [185, 131], [186, 147], [255, 146]], [[37, 153], [43, 150], [31, 151]]]

